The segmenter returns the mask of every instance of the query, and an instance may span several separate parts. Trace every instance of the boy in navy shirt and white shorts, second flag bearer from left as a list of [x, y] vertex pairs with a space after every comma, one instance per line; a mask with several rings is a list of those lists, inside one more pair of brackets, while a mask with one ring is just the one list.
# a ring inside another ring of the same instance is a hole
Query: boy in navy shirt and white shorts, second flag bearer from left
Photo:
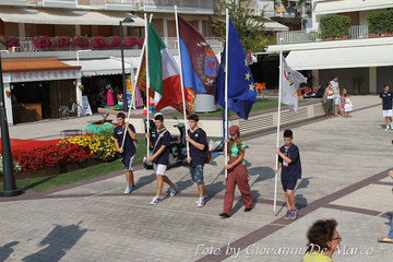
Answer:
[[177, 193], [177, 184], [172, 183], [165, 175], [168, 165], [169, 151], [170, 151], [170, 133], [164, 127], [164, 117], [157, 115], [154, 118], [155, 128], [152, 134], [146, 133], [146, 138], [152, 138], [150, 143], [153, 146], [153, 155], [147, 156], [147, 162], [153, 162], [153, 168], [157, 176], [157, 193], [152, 200], [151, 204], [158, 204], [163, 191], [164, 182], [169, 184], [169, 195], [174, 196]]

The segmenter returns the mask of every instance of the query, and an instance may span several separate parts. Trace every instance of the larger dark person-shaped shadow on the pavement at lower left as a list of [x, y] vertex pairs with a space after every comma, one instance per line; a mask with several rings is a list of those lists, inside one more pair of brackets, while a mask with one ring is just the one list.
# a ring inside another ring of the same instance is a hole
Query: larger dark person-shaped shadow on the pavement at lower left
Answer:
[[48, 236], [38, 243], [39, 247], [47, 247], [36, 253], [27, 255], [22, 259], [22, 261], [59, 261], [87, 231], [87, 229], [80, 227], [81, 223], [82, 222], [78, 225], [72, 224], [70, 226], [56, 225]]

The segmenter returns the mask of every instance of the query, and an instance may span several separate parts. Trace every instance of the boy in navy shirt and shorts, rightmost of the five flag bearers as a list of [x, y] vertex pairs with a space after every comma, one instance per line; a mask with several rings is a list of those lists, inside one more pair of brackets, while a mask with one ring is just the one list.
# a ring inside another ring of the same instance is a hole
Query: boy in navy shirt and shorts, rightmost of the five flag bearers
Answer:
[[[288, 209], [284, 215], [284, 219], [296, 219], [298, 210], [296, 207], [294, 189], [296, 182], [301, 178], [301, 163], [299, 148], [293, 144], [293, 131], [287, 129], [284, 131], [284, 145], [276, 150], [278, 155], [278, 169], [282, 170], [282, 184], [285, 193], [285, 203]], [[275, 172], [278, 170], [275, 169]]]

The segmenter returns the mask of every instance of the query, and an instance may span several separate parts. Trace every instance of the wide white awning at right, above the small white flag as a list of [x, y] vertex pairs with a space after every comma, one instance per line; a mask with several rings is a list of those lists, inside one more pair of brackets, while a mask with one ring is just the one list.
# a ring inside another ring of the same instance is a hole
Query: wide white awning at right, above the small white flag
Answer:
[[290, 51], [286, 61], [295, 70], [390, 67], [393, 45]]

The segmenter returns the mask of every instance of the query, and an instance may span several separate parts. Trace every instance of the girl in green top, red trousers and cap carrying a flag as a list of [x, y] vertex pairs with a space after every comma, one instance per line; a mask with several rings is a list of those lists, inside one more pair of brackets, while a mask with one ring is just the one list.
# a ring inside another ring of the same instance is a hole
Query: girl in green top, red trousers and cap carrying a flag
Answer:
[[[238, 126], [231, 126], [228, 134], [230, 135], [228, 150], [227, 152], [224, 152], [225, 155], [229, 155], [228, 164], [225, 165], [225, 169], [228, 171], [228, 175], [226, 178], [224, 211], [219, 214], [223, 218], [230, 217], [236, 184], [239, 188], [242, 202], [246, 206], [245, 212], [250, 212], [252, 210], [252, 196], [250, 186], [248, 183], [249, 176], [245, 162], [246, 143], [240, 136], [240, 129]], [[227, 139], [225, 142], [227, 142]]]

